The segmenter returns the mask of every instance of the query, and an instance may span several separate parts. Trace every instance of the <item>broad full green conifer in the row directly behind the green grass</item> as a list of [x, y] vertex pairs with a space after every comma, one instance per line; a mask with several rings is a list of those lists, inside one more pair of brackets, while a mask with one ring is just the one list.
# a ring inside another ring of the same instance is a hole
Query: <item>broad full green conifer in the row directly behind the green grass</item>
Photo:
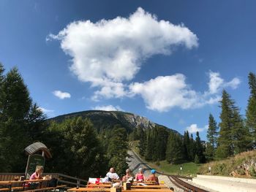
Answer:
[[179, 164], [184, 161], [184, 148], [182, 139], [178, 134], [170, 132], [166, 149], [166, 160], [168, 163]]

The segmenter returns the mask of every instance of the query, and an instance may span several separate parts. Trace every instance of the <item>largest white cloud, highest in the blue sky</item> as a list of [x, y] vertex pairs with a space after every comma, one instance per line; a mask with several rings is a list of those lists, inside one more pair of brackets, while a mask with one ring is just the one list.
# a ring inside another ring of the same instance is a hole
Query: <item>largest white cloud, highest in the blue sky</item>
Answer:
[[70, 69], [80, 81], [101, 88], [94, 99], [124, 96], [120, 84], [132, 80], [146, 58], [169, 55], [179, 45], [188, 49], [198, 45], [197, 36], [184, 24], [158, 20], [140, 7], [129, 18], [75, 21], [59, 34], [49, 34], [49, 39], [61, 41], [62, 50], [72, 57]]

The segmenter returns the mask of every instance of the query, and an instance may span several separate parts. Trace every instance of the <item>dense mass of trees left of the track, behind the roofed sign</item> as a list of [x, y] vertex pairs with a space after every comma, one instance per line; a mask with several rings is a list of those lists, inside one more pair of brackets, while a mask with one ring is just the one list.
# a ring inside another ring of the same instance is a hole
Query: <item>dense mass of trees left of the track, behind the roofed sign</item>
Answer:
[[55, 122], [34, 103], [16, 67], [4, 73], [0, 64], [0, 172], [25, 172], [25, 147], [43, 142], [53, 158], [45, 172], [77, 177], [104, 177], [110, 166], [128, 168], [127, 130], [113, 126], [97, 130], [81, 117]]

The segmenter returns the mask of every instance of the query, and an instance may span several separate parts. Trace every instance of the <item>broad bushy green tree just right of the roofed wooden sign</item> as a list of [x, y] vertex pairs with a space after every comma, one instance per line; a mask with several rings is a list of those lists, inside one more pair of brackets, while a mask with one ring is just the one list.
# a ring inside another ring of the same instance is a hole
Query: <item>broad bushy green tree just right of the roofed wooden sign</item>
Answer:
[[108, 169], [97, 132], [90, 120], [77, 117], [62, 123], [52, 122], [45, 136], [45, 144], [50, 147], [54, 157], [46, 164], [46, 171], [97, 177]]

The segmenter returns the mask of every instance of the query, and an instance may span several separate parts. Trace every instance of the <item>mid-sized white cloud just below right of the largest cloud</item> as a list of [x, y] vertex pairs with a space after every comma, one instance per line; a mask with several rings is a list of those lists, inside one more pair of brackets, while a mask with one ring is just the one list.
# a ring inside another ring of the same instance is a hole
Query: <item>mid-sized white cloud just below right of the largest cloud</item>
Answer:
[[129, 86], [134, 94], [140, 94], [150, 110], [165, 112], [172, 107], [195, 107], [199, 96], [189, 88], [184, 74], [159, 76], [147, 82], [135, 82]]

